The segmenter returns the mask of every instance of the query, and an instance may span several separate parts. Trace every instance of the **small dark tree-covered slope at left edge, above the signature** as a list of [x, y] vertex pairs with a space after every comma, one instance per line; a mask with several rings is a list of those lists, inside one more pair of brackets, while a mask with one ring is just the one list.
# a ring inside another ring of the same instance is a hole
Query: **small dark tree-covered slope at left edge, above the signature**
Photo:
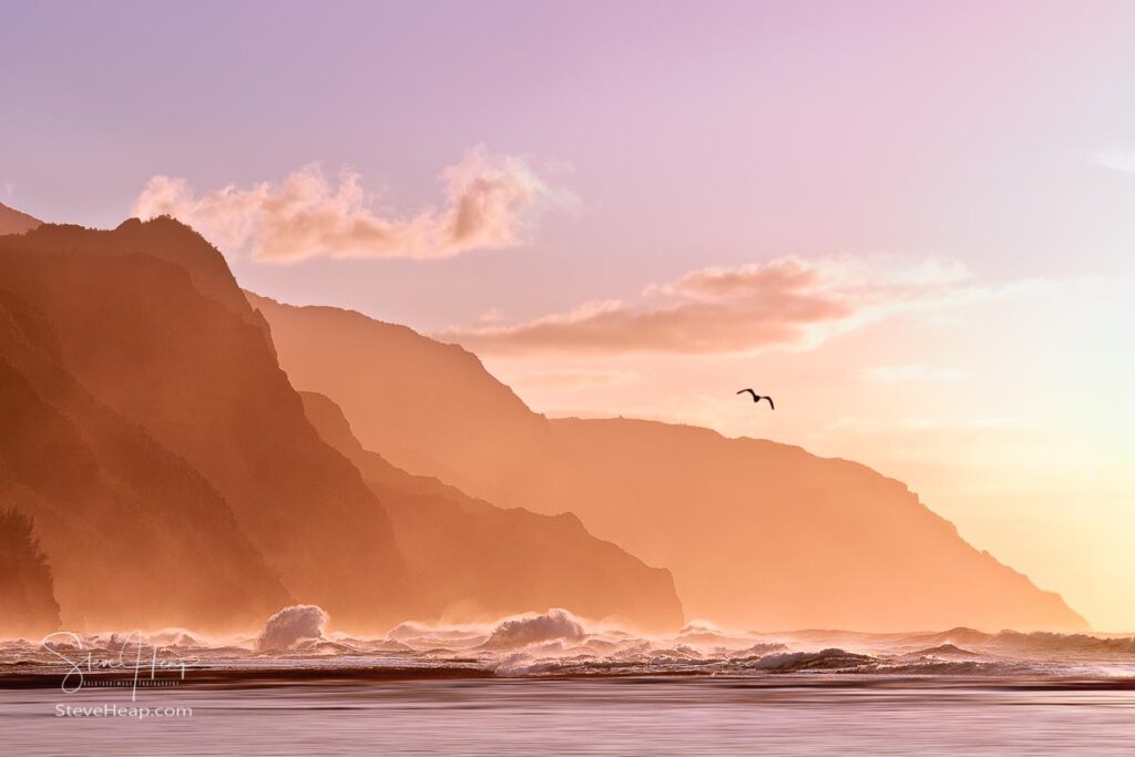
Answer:
[[32, 518], [0, 508], [0, 633], [37, 637], [59, 628], [51, 567]]

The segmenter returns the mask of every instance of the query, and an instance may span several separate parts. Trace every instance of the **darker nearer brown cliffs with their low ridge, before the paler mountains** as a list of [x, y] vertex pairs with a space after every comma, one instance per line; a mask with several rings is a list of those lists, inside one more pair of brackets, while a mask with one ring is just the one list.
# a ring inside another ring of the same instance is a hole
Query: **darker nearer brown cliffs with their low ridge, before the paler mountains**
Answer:
[[0, 237], [0, 505], [35, 516], [68, 628], [260, 625], [294, 602], [360, 630], [552, 606], [682, 622], [669, 572], [574, 516], [409, 476], [306, 404], [187, 227]]

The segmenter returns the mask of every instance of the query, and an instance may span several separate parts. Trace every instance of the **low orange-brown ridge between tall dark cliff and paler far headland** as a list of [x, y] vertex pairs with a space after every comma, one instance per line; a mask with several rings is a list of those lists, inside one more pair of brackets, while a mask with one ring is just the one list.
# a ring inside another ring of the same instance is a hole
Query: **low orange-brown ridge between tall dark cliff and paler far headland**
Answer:
[[647, 630], [682, 624], [669, 571], [596, 539], [572, 514], [503, 510], [411, 476], [363, 449], [330, 399], [301, 394], [320, 436], [359, 468], [389, 513], [422, 578], [428, 615], [478, 621], [564, 607]]

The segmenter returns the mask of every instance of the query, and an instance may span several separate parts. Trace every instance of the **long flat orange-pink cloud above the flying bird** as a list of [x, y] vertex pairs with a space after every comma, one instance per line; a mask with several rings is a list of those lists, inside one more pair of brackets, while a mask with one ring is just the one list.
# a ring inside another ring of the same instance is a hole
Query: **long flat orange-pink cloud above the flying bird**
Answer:
[[705, 268], [650, 286], [638, 303], [583, 303], [514, 325], [477, 323], [439, 338], [479, 352], [522, 355], [751, 352], [813, 343], [897, 309], [973, 297], [969, 272], [949, 260], [884, 267], [884, 261], [781, 258]]

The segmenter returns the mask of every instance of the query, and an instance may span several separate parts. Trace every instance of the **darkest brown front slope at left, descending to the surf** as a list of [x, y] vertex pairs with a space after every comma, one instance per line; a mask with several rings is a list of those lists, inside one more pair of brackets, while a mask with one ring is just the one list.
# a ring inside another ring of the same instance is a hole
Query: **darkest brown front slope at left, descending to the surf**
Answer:
[[[12, 254], [0, 239], [0, 270]], [[230, 628], [289, 602], [216, 489], [79, 386], [0, 281], [0, 506], [35, 516], [66, 626]]]

